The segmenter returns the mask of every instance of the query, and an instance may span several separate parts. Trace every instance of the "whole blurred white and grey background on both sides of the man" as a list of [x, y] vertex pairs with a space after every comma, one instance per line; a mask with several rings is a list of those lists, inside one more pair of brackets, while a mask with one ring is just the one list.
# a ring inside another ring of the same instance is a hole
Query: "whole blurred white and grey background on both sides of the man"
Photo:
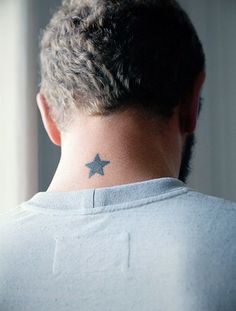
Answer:
[[[236, 1], [180, 0], [203, 42], [207, 79], [189, 186], [236, 201]], [[35, 97], [39, 39], [60, 0], [0, 0], [0, 212], [45, 191], [60, 149]]]

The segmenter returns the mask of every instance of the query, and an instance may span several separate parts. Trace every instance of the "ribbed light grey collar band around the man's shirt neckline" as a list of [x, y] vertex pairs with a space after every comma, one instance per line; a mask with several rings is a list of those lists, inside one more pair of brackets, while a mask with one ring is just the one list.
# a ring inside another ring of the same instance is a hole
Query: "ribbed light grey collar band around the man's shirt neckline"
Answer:
[[186, 185], [180, 180], [164, 177], [79, 191], [38, 192], [21, 207], [40, 209], [41, 212], [90, 214], [135, 207], [186, 191]]

